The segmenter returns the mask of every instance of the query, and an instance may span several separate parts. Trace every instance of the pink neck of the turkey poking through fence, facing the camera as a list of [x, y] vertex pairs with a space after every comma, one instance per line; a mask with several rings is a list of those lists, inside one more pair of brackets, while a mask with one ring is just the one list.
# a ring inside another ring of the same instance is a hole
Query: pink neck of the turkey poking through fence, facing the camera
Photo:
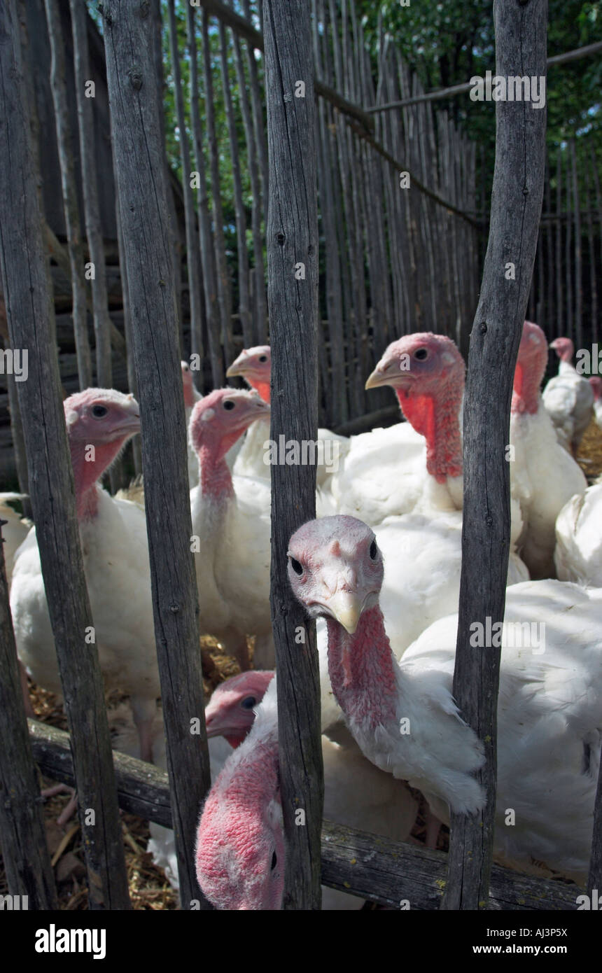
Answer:
[[327, 618], [327, 627], [328, 671], [343, 713], [372, 730], [390, 723], [396, 718], [399, 695], [397, 663], [380, 608], [365, 611], [353, 635], [332, 618]]

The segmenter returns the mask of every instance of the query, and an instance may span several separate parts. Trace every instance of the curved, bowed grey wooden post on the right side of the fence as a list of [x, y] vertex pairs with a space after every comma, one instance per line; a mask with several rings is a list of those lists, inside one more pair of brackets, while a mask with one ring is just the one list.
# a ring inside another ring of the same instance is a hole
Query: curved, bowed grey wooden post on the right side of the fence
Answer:
[[[546, 79], [548, 0], [495, 0], [496, 74]], [[453, 694], [483, 741], [476, 817], [451, 815], [443, 909], [486, 908], [497, 775], [500, 649], [471, 647], [470, 627], [504, 618], [510, 545], [509, 440], [513, 372], [544, 195], [546, 108], [498, 101], [491, 224], [471, 334], [464, 402], [462, 573]]]

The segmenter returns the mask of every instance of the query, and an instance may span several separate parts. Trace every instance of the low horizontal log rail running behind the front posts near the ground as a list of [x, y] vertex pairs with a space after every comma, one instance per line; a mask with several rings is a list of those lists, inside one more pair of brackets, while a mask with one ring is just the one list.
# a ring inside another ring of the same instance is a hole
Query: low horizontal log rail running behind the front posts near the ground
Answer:
[[[73, 783], [68, 734], [46, 723], [28, 720], [33, 756], [43, 774]], [[151, 764], [114, 751], [120, 808], [171, 827], [167, 775]], [[331, 821], [322, 826], [322, 882], [350, 895], [401, 909], [439, 909], [447, 874], [447, 855], [417, 845], [355, 831]], [[569, 911], [577, 909], [576, 885], [534, 879], [494, 865], [489, 908], [503, 911]], [[407, 908], [407, 905], [404, 905]]]

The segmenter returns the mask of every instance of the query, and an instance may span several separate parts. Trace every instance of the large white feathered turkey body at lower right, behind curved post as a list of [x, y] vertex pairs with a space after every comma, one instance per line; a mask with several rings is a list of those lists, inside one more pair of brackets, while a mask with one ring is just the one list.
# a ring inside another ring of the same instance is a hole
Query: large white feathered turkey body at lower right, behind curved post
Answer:
[[[507, 592], [498, 698], [495, 856], [524, 872], [557, 871], [581, 884], [589, 862], [602, 742], [601, 622], [601, 591], [538, 581]], [[518, 638], [516, 627], [522, 632]], [[432, 687], [444, 694], [440, 705], [446, 723], [457, 719], [451, 697], [456, 628], [457, 616], [435, 623], [401, 663], [416, 700], [421, 687], [427, 707], [436, 699]], [[529, 638], [531, 644], [525, 645]], [[512, 644], [516, 641], [517, 646]], [[443, 726], [443, 720], [438, 718], [437, 725]], [[476, 770], [478, 740], [465, 730], [462, 751], [472, 755]], [[440, 744], [442, 765], [453, 767], [455, 758], [444, 735]], [[428, 783], [422, 782], [428, 790]], [[454, 787], [447, 802], [442, 800], [444, 789], [443, 784], [437, 794], [426, 796], [436, 813], [447, 819], [445, 803], [453, 800]], [[507, 824], [509, 808], [515, 812], [513, 827]]]

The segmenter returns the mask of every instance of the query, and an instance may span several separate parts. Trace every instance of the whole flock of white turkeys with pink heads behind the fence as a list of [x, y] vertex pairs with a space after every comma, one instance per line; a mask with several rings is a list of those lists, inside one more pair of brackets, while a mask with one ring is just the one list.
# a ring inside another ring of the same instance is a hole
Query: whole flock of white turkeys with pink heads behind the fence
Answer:
[[[587, 486], [575, 457], [592, 416], [602, 423], [602, 382], [578, 375], [569, 339], [550, 347], [559, 370], [542, 394], [549, 345], [525, 321], [507, 450], [494, 855], [584, 885], [602, 743], [602, 483]], [[241, 668], [206, 707], [214, 782], [199, 809], [196, 874], [219, 909], [278, 910], [285, 840], [269, 606], [269, 346], [243, 350], [227, 375], [250, 389], [201, 397], [182, 363], [200, 631]], [[350, 438], [319, 430], [337, 462], [318, 465], [317, 519], [290, 539], [289, 582], [317, 621], [325, 817], [415, 841], [421, 794], [426, 844], [436, 847], [450, 811], [476, 812], [484, 800], [475, 776], [482, 745], [452, 696], [465, 364], [449, 338], [411, 334], [366, 378], [369, 389], [395, 391], [400, 421]], [[164, 768], [143, 488], [111, 496], [100, 485], [140, 430], [138, 405], [88, 388], [64, 412], [100, 667], [105, 689], [122, 690], [131, 707], [115, 746]], [[18, 496], [2, 495], [3, 538], [33, 715], [27, 674], [59, 697], [61, 683], [35, 526], [8, 505]], [[526, 631], [538, 637], [525, 641]], [[177, 887], [172, 833], [151, 824], [149, 850]], [[362, 905], [323, 889], [324, 909]]]

